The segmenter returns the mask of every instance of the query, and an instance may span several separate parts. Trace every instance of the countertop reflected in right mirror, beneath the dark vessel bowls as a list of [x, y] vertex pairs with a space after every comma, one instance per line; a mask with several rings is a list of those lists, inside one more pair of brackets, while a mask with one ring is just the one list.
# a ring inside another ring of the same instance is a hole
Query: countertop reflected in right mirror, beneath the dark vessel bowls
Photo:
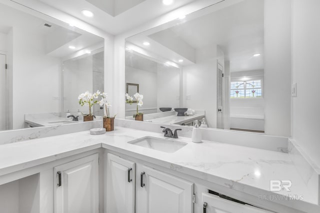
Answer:
[[153, 118], [145, 121], [150, 121], [154, 123], [161, 123], [161, 124], [182, 124], [182, 123], [189, 123], [194, 120], [200, 119], [204, 117], [204, 113], [196, 113], [194, 115], [185, 115], [185, 116], [176, 116], [176, 115], [171, 115], [171, 116], [165, 116], [165, 117], [160, 117], [160, 118]]

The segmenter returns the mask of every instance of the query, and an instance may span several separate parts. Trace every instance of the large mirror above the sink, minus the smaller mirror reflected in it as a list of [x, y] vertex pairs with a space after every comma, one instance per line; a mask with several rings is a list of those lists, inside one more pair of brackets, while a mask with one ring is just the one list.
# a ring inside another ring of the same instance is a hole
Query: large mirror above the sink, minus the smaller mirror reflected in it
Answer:
[[[159, 113], [159, 107], [175, 108], [173, 103], [158, 104], [147, 121], [193, 125], [199, 120], [209, 128], [263, 132], [263, 21], [263, 1], [222, 1], [126, 38], [126, 54], [140, 55], [126, 56], [126, 64], [148, 57], [176, 65], [181, 72], [179, 107], [188, 109], [180, 116], [185, 122], [175, 122], [176, 112]], [[127, 79], [127, 67], [125, 72]], [[161, 86], [157, 94], [173, 96], [163, 90], [171, 82]]]

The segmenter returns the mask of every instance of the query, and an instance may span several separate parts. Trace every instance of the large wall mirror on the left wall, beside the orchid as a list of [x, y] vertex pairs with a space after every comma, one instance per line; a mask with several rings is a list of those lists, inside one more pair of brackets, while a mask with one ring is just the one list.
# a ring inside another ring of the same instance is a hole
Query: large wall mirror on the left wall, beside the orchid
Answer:
[[103, 38], [24, 11], [0, 4], [0, 131], [81, 122], [67, 112], [87, 113], [78, 95], [103, 91]]

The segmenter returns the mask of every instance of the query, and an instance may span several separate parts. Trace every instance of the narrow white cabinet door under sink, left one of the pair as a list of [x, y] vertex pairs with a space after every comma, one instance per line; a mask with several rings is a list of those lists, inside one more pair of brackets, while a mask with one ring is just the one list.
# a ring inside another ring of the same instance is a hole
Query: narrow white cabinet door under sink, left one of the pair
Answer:
[[134, 213], [135, 163], [107, 154], [107, 213]]

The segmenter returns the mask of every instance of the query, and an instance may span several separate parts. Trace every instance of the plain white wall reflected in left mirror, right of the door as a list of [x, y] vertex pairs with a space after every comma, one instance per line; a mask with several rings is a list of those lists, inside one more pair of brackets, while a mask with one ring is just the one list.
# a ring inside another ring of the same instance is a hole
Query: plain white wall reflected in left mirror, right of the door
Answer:
[[13, 129], [24, 127], [24, 114], [59, 111], [60, 60], [44, 54], [42, 36], [13, 26], [12, 66]]

